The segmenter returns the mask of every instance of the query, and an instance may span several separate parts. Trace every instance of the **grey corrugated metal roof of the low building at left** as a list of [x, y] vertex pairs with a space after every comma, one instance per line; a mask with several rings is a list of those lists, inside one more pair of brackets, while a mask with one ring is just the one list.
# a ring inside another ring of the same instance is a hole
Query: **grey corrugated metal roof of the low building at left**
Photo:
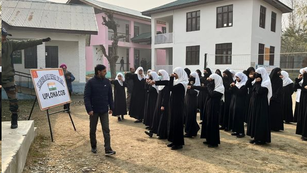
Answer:
[[2, 20], [13, 27], [97, 32], [91, 6], [2, 0]]

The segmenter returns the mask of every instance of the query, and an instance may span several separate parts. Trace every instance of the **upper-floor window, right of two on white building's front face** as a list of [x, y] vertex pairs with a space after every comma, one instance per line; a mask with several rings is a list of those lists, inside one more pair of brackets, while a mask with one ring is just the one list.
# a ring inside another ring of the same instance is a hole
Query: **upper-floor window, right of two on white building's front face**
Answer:
[[216, 8], [216, 28], [232, 27], [233, 5]]

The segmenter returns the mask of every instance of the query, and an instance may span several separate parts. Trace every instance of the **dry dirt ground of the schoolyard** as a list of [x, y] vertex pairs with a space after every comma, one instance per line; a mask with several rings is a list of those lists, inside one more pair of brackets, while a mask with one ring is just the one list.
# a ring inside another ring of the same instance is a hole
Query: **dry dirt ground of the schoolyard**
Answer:
[[[134, 123], [128, 116], [122, 122], [109, 116], [111, 145], [117, 153], [104, 156], [98, 123], [98, 153], [93, 154], [89, 116], [82, 97], [75, 96], [73, 101], [72, 118], [77, 131], [68, 114], [51, 115], [55, 142], [51, 142], [46, 112], [35, 106], [31, 119], [35, 121], [38, 135], [30, 148], [24, 172], [307, 172], [307, 142], [295, 135], [296, 123], [284, 124], [284, 131], [272, 132], [272, 143], [264, 146], [250, 144], [248, 136], [235, 138], [229, 132], [220, 131], [218, 148], [204, 145], [199, 132], [196, 138], [185, 138], [183, 149], [170, 150], [166, 147], [167, 140], [145, 135], [143, 124]], [[4, 101], [4, 110], [7, 104]], [[19, 105], [24, 114], [20, 119], [25, 120], [32, 101], [20, 101]], [[3, 121], [7, 115], [2, 116]]]

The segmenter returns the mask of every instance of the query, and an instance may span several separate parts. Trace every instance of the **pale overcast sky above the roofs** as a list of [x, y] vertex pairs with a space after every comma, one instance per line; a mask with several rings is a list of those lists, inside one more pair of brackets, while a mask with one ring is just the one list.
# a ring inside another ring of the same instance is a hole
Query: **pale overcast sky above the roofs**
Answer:
[[[68, 0], [47, 0], [57, 3], [66, 3]], [[117, 5], [138, 11], [145, 11], [151, 8], [159, 7], [164, 4], [173, 2], [175, 0], [98, 0], [104, 3]], [[279, 0], [280, 2], [287, 4], [288, 0]]]

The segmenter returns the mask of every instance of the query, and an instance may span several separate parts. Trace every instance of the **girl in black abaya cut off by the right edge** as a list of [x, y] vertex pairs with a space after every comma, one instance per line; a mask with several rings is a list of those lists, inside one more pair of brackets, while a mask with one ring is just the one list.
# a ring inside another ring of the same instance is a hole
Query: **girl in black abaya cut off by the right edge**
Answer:
[[301, 135], [301, 139], [307, 141], [307, 67], [303, 69], [303, 74], [295, 79], [295, 87], [301, 89], [295, 134]]

